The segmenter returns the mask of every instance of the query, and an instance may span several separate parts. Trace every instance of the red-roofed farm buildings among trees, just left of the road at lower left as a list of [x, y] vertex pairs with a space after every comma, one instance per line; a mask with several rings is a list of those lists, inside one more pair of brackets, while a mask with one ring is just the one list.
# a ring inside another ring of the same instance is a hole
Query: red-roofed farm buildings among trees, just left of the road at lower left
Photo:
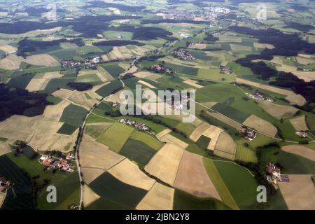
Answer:
[[63, 172], [73, 172], [74, 169], [72, 168], [71, 163], [74, 160], [74, 155], [69, 153], [64, 158], [59, 156], [58, 158], [52, 156], [52, 155], [42, 155], [41, 158], [39, 158], [39, 162], [41, 165], [44, 165], [46, 169], [59, 169]]

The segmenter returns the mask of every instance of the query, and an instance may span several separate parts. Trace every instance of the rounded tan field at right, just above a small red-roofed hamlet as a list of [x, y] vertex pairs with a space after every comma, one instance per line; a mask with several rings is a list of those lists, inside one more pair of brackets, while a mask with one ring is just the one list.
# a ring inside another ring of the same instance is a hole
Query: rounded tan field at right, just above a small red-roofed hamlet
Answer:
[[251, 127], [258, 132], [262, 132], [263, 134], [267, 134], [272, 137], [274, 137], [276, 135], [276, 132], [278, 132], [278, 130], [276, 130], [276, 127], [274, 127], [272, 123], [269, 123], [268, 121], [258, 118], [254, 115], [249, 116], [244, 121], [243, 125]]

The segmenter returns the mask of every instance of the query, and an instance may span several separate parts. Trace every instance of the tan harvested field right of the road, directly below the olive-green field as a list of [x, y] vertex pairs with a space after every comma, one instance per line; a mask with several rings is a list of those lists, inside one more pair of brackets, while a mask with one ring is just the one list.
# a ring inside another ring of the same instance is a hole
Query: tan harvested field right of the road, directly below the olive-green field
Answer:
[[[109, 147], [100, 144], [87, 134], [83, 135], [79, 155], [80, 164], [83, 168], [101, 169], [103, 171], [113, 167], [125, 158], [109, 150]], [[83, 179], [85, 179], [84, 175]]]

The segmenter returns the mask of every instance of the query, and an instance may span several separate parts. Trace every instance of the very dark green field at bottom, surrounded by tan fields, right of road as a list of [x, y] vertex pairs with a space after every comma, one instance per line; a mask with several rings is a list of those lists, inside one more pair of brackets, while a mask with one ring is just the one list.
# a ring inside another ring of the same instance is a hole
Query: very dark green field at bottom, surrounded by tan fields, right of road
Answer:
[[90, 183], [90, 188], [106, 200], [130, 208], [135, 208], [147, 193], [146, 190], [119, 181], [107, 172]]

